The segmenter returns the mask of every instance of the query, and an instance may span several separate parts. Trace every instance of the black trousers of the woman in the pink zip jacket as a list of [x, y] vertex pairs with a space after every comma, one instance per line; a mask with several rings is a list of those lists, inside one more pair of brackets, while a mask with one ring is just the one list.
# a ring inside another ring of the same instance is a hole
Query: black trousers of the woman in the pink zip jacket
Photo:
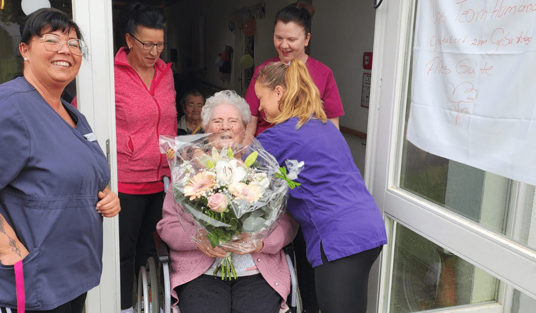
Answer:
[[132, 307], [134, 275], [147, 259], [157, 259], [153, 232], [162, 219], [164, 193], [118, 193], [121, 203], [119, 213], [119, 254], [121, 265], [121, 309]]

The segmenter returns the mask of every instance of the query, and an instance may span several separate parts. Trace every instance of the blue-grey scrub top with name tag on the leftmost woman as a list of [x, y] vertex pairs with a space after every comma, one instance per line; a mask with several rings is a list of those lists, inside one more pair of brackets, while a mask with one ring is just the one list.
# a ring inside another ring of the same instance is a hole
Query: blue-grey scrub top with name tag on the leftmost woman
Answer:
[[[28, 310], [75, 299], [99, 285], [102, 272], [95, 205], [110, 180], [108, 163], [84, 115], [63, 105], [76, 128], [25, 78], [0, 85], [0, 213], [29, 251]], [[0, 265], [0, 306], [16, 304], [13, 266]]]

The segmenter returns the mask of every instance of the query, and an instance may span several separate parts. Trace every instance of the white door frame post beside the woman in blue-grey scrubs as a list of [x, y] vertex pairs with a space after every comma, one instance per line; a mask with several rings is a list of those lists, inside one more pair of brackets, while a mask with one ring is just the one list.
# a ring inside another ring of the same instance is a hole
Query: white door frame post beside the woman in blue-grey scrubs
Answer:
[[[108, 155], [111, 190], [117, 192], [115, 90], [111, 0], [72, 0], [73, 18], [81, 29], [89, 54], [77, 76], [78, 108]], [[120, 311], [118, 217], [105, 218], [102, 276], [87, 294], [86, 312]]]

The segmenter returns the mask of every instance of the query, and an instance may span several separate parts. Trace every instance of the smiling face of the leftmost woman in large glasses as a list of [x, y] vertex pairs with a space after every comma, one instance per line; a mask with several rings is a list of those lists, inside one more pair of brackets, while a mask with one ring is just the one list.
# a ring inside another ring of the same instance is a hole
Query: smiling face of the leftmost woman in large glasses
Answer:
[[28, 81], [43, 85], [45, 88], [64, 88], [75, 79], [82, 62], [81, 55], [74, 55], [66, 42], [59, 50], [48, 51], [41, 39], [44, 34], [57, 35], [62, 41], [78, 39], [75, 30], [64, 33], [61, 30], [50, 32], [43, 28], [41, 37], [34, 37], [28, 43], [20, 43], [20, 54], [24, 62], [24, 77]]

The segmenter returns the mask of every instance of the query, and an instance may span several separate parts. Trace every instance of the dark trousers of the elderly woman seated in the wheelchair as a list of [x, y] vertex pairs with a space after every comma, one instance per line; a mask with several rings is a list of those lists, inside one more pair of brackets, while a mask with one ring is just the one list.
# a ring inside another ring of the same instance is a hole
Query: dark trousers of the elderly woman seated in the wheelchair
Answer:
[[282, 300], [260, 274], [230, 281], [201, 275], [175, 291], [181, 313], [277, 313]]

